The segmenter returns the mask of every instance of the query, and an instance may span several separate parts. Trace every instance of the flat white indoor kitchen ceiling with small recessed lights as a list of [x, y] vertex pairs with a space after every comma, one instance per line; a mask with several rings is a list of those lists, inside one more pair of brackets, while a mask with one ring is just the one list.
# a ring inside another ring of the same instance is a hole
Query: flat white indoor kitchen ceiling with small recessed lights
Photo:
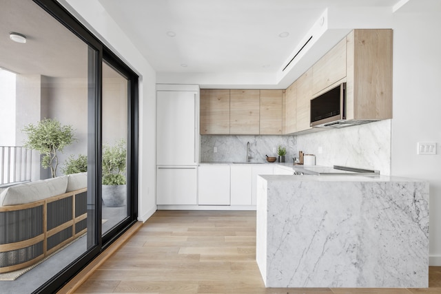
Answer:
[[[99, 2], [158, 73], [267, 74], [285, 65], [327, 8], [334, 12], [386, 8], [391, 14], [399, 0]], [[282, 32], [289, 36], [280, 38]]]

